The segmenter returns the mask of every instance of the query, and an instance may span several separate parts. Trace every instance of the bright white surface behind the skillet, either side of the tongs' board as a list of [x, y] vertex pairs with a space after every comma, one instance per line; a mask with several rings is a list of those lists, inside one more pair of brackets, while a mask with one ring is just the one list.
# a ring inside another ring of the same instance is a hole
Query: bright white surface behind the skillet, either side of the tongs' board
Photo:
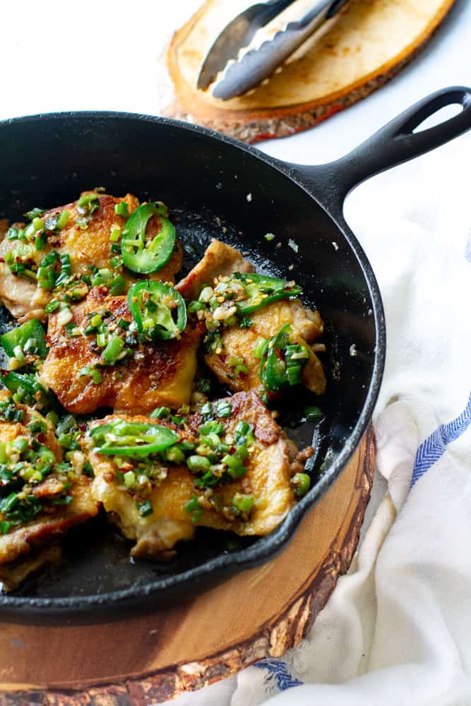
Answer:
[[[165, 44], [198, 4], [4, 0], [0, 118], [71, 109], [156, 114], [165, 104], [157, 89]], [[457, 0], [429, 46], [386, 87], [314, 130], [262, 149], [291, 161], [326, 162], [427, 92], [471, 83], [470, 29], [471, 4]]]

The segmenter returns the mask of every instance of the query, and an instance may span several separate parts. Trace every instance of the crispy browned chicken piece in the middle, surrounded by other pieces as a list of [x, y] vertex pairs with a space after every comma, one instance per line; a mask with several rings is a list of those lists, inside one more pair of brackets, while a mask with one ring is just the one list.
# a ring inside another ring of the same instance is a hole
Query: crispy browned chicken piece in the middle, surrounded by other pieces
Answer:
[[[110, 331], [117, 330], [119, 320], [133, 321], [126, 297], [112, 297], [107, 289], [95, 287], [86, 299], [71, 306], [68, 325], [75, 324], [83, 332], [95, 314], [102, 316]], [[134, 345], [126, 338], [129, 356], [116, 365], [101, 367], [102, 348], [97, 337], [83, 333], [68, 336], [61, 313], [52, 313], [42, 378], [61, 405], [76, 414], [88, 414], [98, 407], [143, 413], [160, 406], [178, 409], [190, 400], [201, 333], [201, 326], [196, 326], [187, 328], [179, 339]], [[95, 378], [85, 373], [87, 369], [96, 369]]]

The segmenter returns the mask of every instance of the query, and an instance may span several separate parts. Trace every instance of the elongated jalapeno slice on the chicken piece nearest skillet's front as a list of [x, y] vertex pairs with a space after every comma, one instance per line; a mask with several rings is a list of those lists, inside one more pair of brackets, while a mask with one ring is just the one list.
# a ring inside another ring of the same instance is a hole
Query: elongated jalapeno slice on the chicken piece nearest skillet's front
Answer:
[[95, 450], [109, 456], [143, 458], [164, 451], [179, 441], [179, 434], [168, 426], [138, 424], [117, 419], [95, 426], [90, 431]]

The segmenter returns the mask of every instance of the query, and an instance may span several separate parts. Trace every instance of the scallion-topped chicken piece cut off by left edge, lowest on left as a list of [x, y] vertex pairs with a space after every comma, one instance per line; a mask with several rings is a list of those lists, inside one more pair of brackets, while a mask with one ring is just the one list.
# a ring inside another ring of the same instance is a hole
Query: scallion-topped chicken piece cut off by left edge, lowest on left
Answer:
[[[23, 418], [7, 421], [12, 411]], [[30, 451], [38, 447], [31, 460]], [[90, 493], [90, 478], [82, 474], [83, 454], [67, 470], [58, 467], [62, 450], [51, 423], [34, 409], [15, 404], [8, 390], [0, 392], [0, 448], [0, 582], [11, 590], [49, 561], [51, 554], [42, 553], [43, 547], [49, 549], [69, 527], [96, 515], [99, 505]], [[44, 479], [37, 470], [44, 469], [42, 453], [49, 453], [45, 458], [50, 464]]]

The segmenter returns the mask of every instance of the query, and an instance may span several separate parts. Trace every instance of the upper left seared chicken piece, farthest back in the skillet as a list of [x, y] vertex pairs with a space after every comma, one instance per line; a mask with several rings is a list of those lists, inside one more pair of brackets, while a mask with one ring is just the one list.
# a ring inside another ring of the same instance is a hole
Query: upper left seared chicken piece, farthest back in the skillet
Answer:
[[[136, 196], [126, 194], [124, 198], [116, 198], [107, 194], [85, 191], [82, 196], [93, 194], [97, 197], [97, 208], [93, 213], [83, 220], [83, 215], [78, 212], [78, 201], [68, 203], [58, 208], [52, 208], [42, 214], [44, 222], [60, 215], [63, 211], [68, 211], [69, 217], [65, 227], [59, 231], [52, 231], [47, 237], [47, 244], [41, 250], [32, 247], [31, 258], [35, 265], [39, 265], [47, 253], [55, 250], [59, 255], [68, 254], [71, 259], [72, 275], [90, 275], [92, 268], [107, 268], [114, 272], [110, 260], [116, 256], [111, 251], [112, 243], [109, 239], [114, 227], [124, 227], [127, 217], [114, 213], [114, 207], [121, 201], [128, 206], [129, 214], [133, 213], [139, 205]], [[39, 318], [44, 321], [44, 306], [52, 299], [53, 295], [47, 289], [42, 289], [36, 282], [21, 275], [11, 273], [8, 264], [5, 263], [5, 256], [8, 251], [15, 249], [19, 241], [8, 240], [5, 237], [6, 227], [1, 227], [0, 222], [0, 299], [6, 308], [11, 311], [15, 318], [23, 321], [27, 318]], [[23, 226], [23, 224], [15, 224]], [[157, 216], [150, 218], [147, 227], [147, 234], [153, 237], [157, 234], [160, 222]], [[34, 242], [34, 240], [33, 240]], [[145, 275], [145, 279], [158, 280], [160, 282], [173, 282], [175, 274], [181, 269], [182, 249], [181, 244], [177, 246], [167, 265], [161, 270], [151, 275]], [[124, 279], [129, 284], [140, 279], [135, 273], [123, 268]]]

